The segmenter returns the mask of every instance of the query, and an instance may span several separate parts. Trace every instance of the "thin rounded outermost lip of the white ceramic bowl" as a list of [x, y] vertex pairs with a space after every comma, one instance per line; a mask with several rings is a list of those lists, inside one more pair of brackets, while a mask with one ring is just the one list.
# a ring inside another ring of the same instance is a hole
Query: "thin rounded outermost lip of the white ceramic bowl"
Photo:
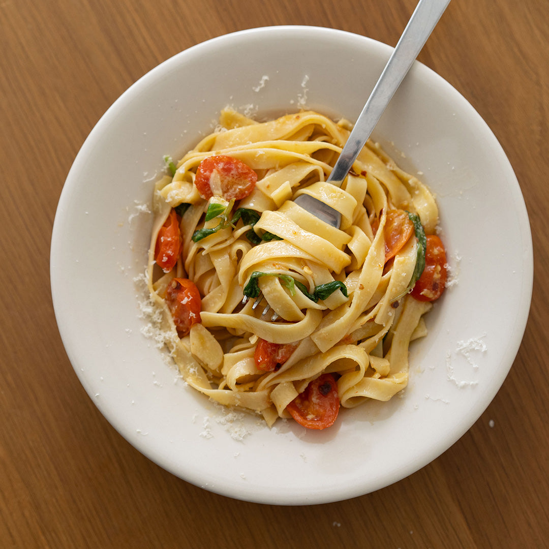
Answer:
[[[51, 276], [51, 289], [52, 289], [52, 299], [53, 299], [53, 305], [54, 305], [54, 311], [55, 316], [58, 320], [58, 327], [59, 332], [61, 335], [61, 339], [63, 340], [63, 344], [65, 345], [65, 349], [67, 351], [67, 354], [69, 356], [69, 360], [71, 361], [71, 364], [75, 368], [75, 372], [77, 376], [80, 378], [80, 381], [82, 385], [85, 387], [86, 391], [88, 392], [89, 396], [92, 398], [91, 391], [89, 391], [89, 386], [87, 379], [81, 375], [81, 372], [79, 372], [79, 369], [76, 367], [76, 364], [79, 362], [79, 357], [77, 356], [78, 351], [74, 347], [74, 342], [71, 341], [71, 335], [68, 332], [68, 328], [66, 326], [66, 318], [68, 315], [68, 310], [66, 309], [66, 305], [62, 304], [61, 301], [63, 301], [62, 297], [62, 284], [65, 282], [61, 282], [61, 273], [58, 269], [58, 258], [59, 254], [63, 253], [62, 250], [62, 241], [63, 241], [63, 234], [61, 231], [63, 230], [62, 227], [62, 220], [65, 215], [65, 212], [70, 208], [70, 201], [71, 201], [71, 193], [74, 192], [74, 187], [76, 186], [76, 180], [75, 180], [75, 174], [77, 174], [80, 170], [83, 169], [83, 165], [85, 164], [85, 156], [88, 152], [88, 148], [92, 146], [94, 139], [96, 139], [96, 136], [100, 135], [101, 132], [105, 131], [108, 125], [110, 124], [110, 118], [112, 116], [115, 116], [117, 113], [117, 109], [121, 105], [123, 105], [126, 100], [130, 99], [133, 94], [139, 93], [141, 87], [146, 86], [150, 80], [154, 81], [159, 75], [163, 74], [166, 70], [172, 70], [172, 68], [176, 68], [180, 63], [184, 63], [184, 60], [192, 55], [195, 55], [200, 52], [208, 52], [208, 51], [214, 51], [219, 44], [231, 42], [231, 41], [238, 41], [241, 39], [248, 40], [249, 38], [255, 38], [260, 35], [265, 35], [265, 33], [302, 33], [303, 35], [309, 35], [309, 36], [318, 36], [318, 37], [329, 37], [329, 36], [337, 36], [338, 38], [343, 38], [344, 40], [353, 40], [353, 41], [361, 41], [364, 44], [368, 44], [369, 47], [376, 48], [378, 51], [383, 52], [384, 55], [388, 57], [390, 52], [392, 51], [392, 47], [388, 46], [388, 44], [384, 44], [382, 42], [373, 40], [372, 38], [357, 35], [355, 33], [349, 32], [349, 31], [343, 31], [343, 30], [337, 30], [337, 29], [331, 29], [329, 27], [322, 27], [322, 26], [305, 26], [305, 25], [273, 25], [273, 26], [266, 26], [266, 27], [254, 27], [250, 29], [245, 29], [233, 33], [229, 33], [226, 35], [216, 36], [214, 38], [210, 38], [210, 40], [207, 40], [205, 42], [201, 42], [198, 44], [195, 44], [194, 46], [191, 46], [187, 49], [184, 49], [182, 52], [179, 52], [169, 59], [166, 59], [159, 65], [155, 66], [155, 68], [148, 71], [146, 74], [144, 74], [141, 78], [139, 78], [135, 83], [133, 83], [130, 87], [126, 89], [125, 92], [123, 92], [119, 98], [115, 100], [115, 102], [105, 111], [105, 114], [99, 119], [97, 124], [92, 128], [91, 132], [89, 132], [89, 135], [85, 139], [84, 143], [82, 144], [81, 149], [79, 150], [79, 153], [77, 153], [74, 163], [71, 166], [71, 169], [69, 170], [68, 176], [66, 177], [64, 187], [61, 191], [61, 195], [59, 198], [59, 204], [58, 208], [55, 214], [54, 219], [54, 225], [53, 225], [53, 231], [52, 231], [52, 244], [51, 244], [51, 258], [50, 258], [50, 276]], [[494, 136], [488, 125], [484, 122], [484, 120], [481, 118], [481, 116], [477, 113], [477, 111], [469, 104], [467, 99], [465, 99], [460, 92], [458, 92], [453, 86], [450, 85], [446, 80], [444, 80], [441, 76], [436, 74], [432, 69], [429, 69], [426, 65], [422, 64], [420, 61], [416, 61], [416, 66], [421, 66], [422, 71], [427, 71], [425, 74], [430, 75], [430, 77], [433, 77], [437, 79], [440, 82], [441, 86], [444, 86], [446, 91], [449, 91], [449, 93], [453, 94], [453, 98], [457, 98], [456, 100], [459, 100], [461, 102], [465, 102], [465, 104], [468, 105], [470, 110], [472, 111], [474, 116], [478, 117], [478, 123], [479, 125], [485, 125], [485, 131], [487, 132], [487, 135], [491, 136], [490, 138], [493, 139], [492, 146], [494, 146], [496, 149], [498, 149], [498, 154], [500, 154], [501, 161], [503, 165], [505, 166], [506, 170], [510, 170], [512, 172], [514, 181], [516, 181], [517, 188], [515, 189], [516, 199], [520, 202], [522, 200], [522, 204], [519, 204], [519, 208], [524, 209], [524, 215], [526, 215], [526, 220], [528, 220], [528, 214], [526, 212], [525, 204], [524, 204], [524, 198], [522, 197], [522, 193], [520, 193], [520, 187], [516, 178], [516, 175], [514, 174], [514, 171], [512, 169], [511, 164], [509, 163], [509, 160], [507, 156], [505, 155], [505, 152], [503, 152], [503, 149], [501, 148], [500, 143], [497, 141], [497, 138]], [[516, 193], [518, 191], [518, 194]], [[492, 386], [492, 391], [490, 391], [489, 394], [485, 395], [484, 402], [480, 406], [482, 408], [482, 411], [485, 410], [486, 406], [490, 403], [490, 401], [493, 399], [497, 391], [500, 389], [501, 384], [505, 380], [507, 373], [509, 369], [512, 366], [512, 363], [514, 361], [514, 358], [517, 355], [520, 341], [522, 340], [524, 330], [526, 327], [526, 322], [528, 320], [529, 316], [529, 309], [530, 309], [530, 302], [531, 302], [531, 295], [532, 295], [532, 289], [533, 289], [533, 251], [531, 248], [531, 231], [530, 231], [530, 225], [529, 223], [526, 226], [521, 227], [523, 231], [526, 231], [527, 234], [524, 236], [526, 239], [529, 239], [530, 247], [529, 249], [524, 250], [524, 255], [522, 258], [523, 261], [523, 269], [524, 269], [524, 280], [523, 280], [523, 294], [521, 298], [521, 302], [523, 303], [522, 309], [519, 311], [519, 314], [515, 318], [514, 322], [517, 327], [516, 332], [514, 333], [513, 340], [509, 344], [509, 348], [512, 352], [512, 358], [509, 360], [508, 367], [500, 368], [499, 376], [497, 379], [497, 382], [495, 382]], [[524, 305], [526, 302], [528, 302], [528, 306]], [[93, 399], [92, 399], [93, 400]], [[104, 403], [98, 402], [97, 400], [93, 400], [94, 404], [98, 406], [99, 410], [103, 413], [103, 415], [108, 419], [109, 423], [115, 427], [115, 429], [122, 435], [124, 438], [137, 448], [141, 453], [149, 457], [152, 461], [155, 463], [158, 463], [159, 466], [170, 470], [173, 474], [176, 474], [178, 477], [183, 478], [184, 480], [187, 480], [193, 484], [197, 485], [203, 485], [203, 481], [200, 481], [198, 478], [193, 478], [192, 475], [181, 475], [180, 470], [175, 470], [173, 468], [173, 465], [169, 462], [163, 459], [163, 456], [159, 455], [158, 452], [153, 451], [150, 449], [150, 447], [144, 446], [143, 444], [140, 444], [139, 441], [136, 444], [136, 439], [133, 436], [130, 436], [127, 432], [123, 420], [121, 421], [117, 417], [113, 417], [113, 414], [111, 411], [108, 410], [108, 407], [104, 406]], [[482, 411], [480, 413], [482, 413]], [[387, 483], [384, 479], [381, 479], [378, 481], [378, 483], [372, 482], [369, 484], [368, 490], [364, 491], [364, 489], [357, 486], [345, 486], [344, 488], [340, 489], [337, 493], [327, 495], [324, 493], [317, 494], [317, 495], [303, 495], [302, 497], [296, 497], [295, 494], [289, 494], [288, 497], [284, 497], [282, 494], [268, 494], [268, 495], [257, 495], [253, 493], [253, 490], [251, 492], [243, 491], [243, 490], [235, 490], [232, 483], [228, 483], [226, 485], [223, 485], [222, 483], [216, 486], [204, 486], [206, 489], [209, 489], [211, 491], [214, 491], [216, 493], [226, 495], [229, 497], [239, 498], [247, 501], [255, 501], [259, 503], [276, 503], [279, 505], [310, 505], [311, 503], [325, 503], [329, 501], [338, 501], [338, 500], [344, 500], [349, 497], [355, 497], [361, 494], [366, 494], [368, 492], [383, 488], [384, 486], [388, 484], [392, 484], [393, 482], [396, 482], [402, 478], [407, 477], [408, 475], [412, 474], [419, 468], [424, 467], [427, 465], [432, 459], [438, 457], [442, 452], [444, 452], [447, 448], [449, 448], [454, 442], [456, 442], [470, 427], [471, 425], [477, 421], [478, 417], [480, 417], [480, 413], [476, 414], [476, 417], [472, 418], [469, 417], [469, 421], [464, 422], [462, 424], [462, 429], [456, 430], [452, 433], [451, 436], [447, 436], [444, 440], [439, 441], [439, 443], [436, 445], [435, 449], [432, 450], [431, 453], [436, 454], [434, 457], [430, 458], [426, 462], [412, 462], [408, 463], [407, 466], [402, 467], [398, 472], [395, 472], [393, 475], [393, 480], [389, 483]]]

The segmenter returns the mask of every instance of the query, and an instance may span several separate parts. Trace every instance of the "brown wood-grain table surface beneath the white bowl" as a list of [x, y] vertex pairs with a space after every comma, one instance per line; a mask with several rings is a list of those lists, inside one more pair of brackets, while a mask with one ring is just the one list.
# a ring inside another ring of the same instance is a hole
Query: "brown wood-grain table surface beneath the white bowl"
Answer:
[[549, 547], [547, 0], [454, 0], [419, 55], [503, 145], [535, 251], [531, 313], [511, 372], [478, 422], [427, 467], [326, 505], [212, 494], [115, 432], [55, 324], [48, 267], [61, 187], [88, 132], [131, 83], [182, 49], [249, 27], [329, 26], [394, 45], [414, 4], [0, 3], [0, 546]]

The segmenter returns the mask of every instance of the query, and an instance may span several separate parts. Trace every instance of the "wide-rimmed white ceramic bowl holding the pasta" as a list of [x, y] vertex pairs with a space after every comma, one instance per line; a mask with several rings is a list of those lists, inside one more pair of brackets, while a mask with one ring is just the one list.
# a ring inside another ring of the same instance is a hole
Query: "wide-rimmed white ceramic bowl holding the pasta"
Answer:
[[[139, 317], [155, 176], [227, 104], [260, 115], [300, 106], [355, 120], [391, 48], [318, 27], [221, 36], [168, 59], [113, 104], [77, 155], [59, 200], [51, 281], [59, 330], [91, 399], [139, 451], [173, 474], [243, 500], [342, 500], [406, 477], [477, 420], [505, 379], [528, 316], [531, 236], [513, 170], [488, 126], [420, 63], [374, 138], [438, 197], [455, 275], [412, 345], [411, 382], [388, 403], [305, 432], [227, 416], [181, 381]], [[240, 440], [239, 440], [240, 439]]]

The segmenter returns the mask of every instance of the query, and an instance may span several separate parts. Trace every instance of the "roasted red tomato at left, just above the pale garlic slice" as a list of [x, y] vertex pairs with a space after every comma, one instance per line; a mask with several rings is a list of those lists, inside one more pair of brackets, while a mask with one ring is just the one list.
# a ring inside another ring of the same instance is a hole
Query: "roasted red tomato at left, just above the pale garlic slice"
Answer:
[[200, 292], [196, 284], [188, 278], [174, 278], [166, 289], [166, 305], [180, 338], [200, 322]]

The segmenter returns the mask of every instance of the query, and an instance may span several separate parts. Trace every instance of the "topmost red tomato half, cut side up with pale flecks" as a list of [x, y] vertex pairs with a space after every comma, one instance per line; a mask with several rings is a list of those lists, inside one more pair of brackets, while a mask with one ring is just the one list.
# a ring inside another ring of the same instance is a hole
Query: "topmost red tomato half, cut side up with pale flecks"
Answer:
[[208, 156], [197, 169], [194, 184], [206, 200], [221, 196], [225, 200], [247, 197], [255, 187], [257, 173], [232, 156]]

